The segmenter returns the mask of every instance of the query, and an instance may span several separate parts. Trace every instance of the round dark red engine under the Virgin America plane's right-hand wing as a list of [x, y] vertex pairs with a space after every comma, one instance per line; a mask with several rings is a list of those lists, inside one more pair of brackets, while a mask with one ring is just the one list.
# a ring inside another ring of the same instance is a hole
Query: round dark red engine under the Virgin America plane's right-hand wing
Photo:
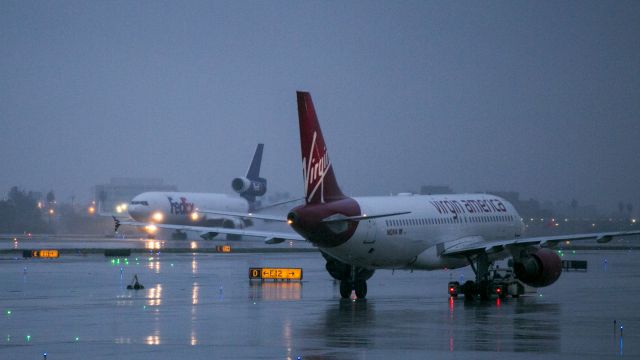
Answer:
[[540, 249], [529, 256], [514, 262], [516, 277], [533, 287], [549, 286], [556, 282], [562, 273], [562, 260], [549, 249]]

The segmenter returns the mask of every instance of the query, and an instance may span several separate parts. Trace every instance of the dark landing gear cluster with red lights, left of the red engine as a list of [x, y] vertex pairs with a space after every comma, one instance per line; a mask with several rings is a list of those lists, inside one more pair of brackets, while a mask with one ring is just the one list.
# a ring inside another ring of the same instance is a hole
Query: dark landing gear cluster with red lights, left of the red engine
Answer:
[[507, 295], [517, 298], [524, 294], [524, 286], [515, 278], [513, 269], [500, 269], [493, 267], [489, 263], [487, 254], [480, 254], [474, 261], [468, 258], [473, 272], [476, 274], [476, 281], [466, 281], [460, 285], [457, 281], [449, 282], [449, 296], [458, 297], [459, 293], [464, 294], [465, 300], [473, 300], [479, 297], [480, 300], [489, 300], [496, 295], [504, 299]]

